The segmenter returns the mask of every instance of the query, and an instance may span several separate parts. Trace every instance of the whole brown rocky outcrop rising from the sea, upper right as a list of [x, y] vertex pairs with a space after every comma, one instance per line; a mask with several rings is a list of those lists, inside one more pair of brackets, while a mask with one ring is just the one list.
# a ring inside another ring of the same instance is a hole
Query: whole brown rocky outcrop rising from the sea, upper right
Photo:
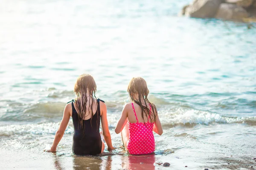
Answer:
[[194, 0], [183, 7], [181, 15], [255, 22], [256, 0]]

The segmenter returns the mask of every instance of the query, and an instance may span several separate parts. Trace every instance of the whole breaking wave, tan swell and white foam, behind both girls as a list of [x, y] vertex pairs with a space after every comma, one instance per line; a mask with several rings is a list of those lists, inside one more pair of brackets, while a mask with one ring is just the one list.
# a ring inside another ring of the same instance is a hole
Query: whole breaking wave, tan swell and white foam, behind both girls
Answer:
[[[54, 88], [49, 88], [47, 91], [55, 91]], [[63, 94], [71, 94], [73, 91], [62, 91]], [[167, 94], [163, 94], [167, 95]], [[65, 96], [65, 95], [64, 95]], [[180, 97], [180, 95], [174, 95], [173, 97]], [[183, 96], [184, 97], [184, 96]], [[108, 97], [106, 97], [108, 99]], [[218, 113], [212, 113], [210, 111], [200, 111], [195, 109], [196, 106], [189, 105], [187, 102], [171, 102], [164, 98], [158, 98], [155, 95], [150, 95], [149, 100], [157, 105], [159, 111], [159, 117], [162, 121], [164, 127], [173, 127], [175, 125], [185, 125], [191, 126], [196, 124], [208, 125], [211, 123], [246, 123], [248, 125], [255, 125], [255, 114], [250, 113], [250, 115], [241, 114], [241, 116], [225, 116], [224, 111]], [[63, 100], [61, 100], [63, 101]], [[67, 99], [67, 102], [69, 100]], [[17, 122], [56, 122], [61, 120], [64, 107], [66, 102], [38, 102], [35, 104], [23, 104], [15, 101], [2, 100], [2, 105], [0, 105], [0, 121], [17, 121]], [[116, 121], [119, 119], [119, 114], [122, 112], [122, 108], [125, 103], [129, 102], [128, 98], [123, 98], [120, 100], [110, 99], [105, 100], [108, 108], [108, 118], [111, 122], [110, 125], [115, 125]], [[241, 102], [241, 101], [240, 101]], [[255, 101], [243, 100], [243, 104], [255, 107]], [[216, 108], [228, 108], [227, 105], [234, 105], [233, 103], [219, 103], [215, 105]], [[2, 106], [2, 107], [1, 107]], [[214, 108], [214, 107], [213, 107]], [[206, 108], [207, 109], [207, 108]], [[244, 116], [244, 117], [242, 117]], [[254, 116], [254, 117], [253, 117]]]

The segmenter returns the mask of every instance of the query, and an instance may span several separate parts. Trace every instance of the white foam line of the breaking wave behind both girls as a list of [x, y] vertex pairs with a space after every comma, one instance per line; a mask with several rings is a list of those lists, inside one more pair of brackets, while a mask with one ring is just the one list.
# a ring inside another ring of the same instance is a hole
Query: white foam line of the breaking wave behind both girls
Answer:
[[[116, 126], [117, 120], [119, 116], [116, 114], [110, 114], [109, 116], [109, 127], [112, 131]], [[225, 117], [220, 116], [218, 114], [213, 113], [205, 113], [205, 112], [195, 112], [195, 111], [188, 111], [180, 115], [173, 116], [173, 118], [169, 119], [161, 119], [161, 123], [163, 129], [168, 130], [172, 127], [182, 125], [185, 127], [195, 126], [198, 124], [209, 125], [212, 123], [245, 123], [247, 125], [256, 125], [256, 116], [254, 117]], [[167, 121], [168, 120], [168, 121]], [[0, 136], [12, 136], [12, 135], [44, 135], [44, 134], [55, 134], [58, 130], [60, 122], [54, 123], [39, 123], [39, 124], [24, 124], [24, 125], [3, 125], [0, 126]], [[112, 128], [111, 128], [112, 127]], [[65, 130], [66, 134], [73, 134], [73, 123], [72, 119]], [[177, 133], [173, 134], [176, 137], [191, 137], [194, 139], [193, 136], [189, 136], [187, 133]]]

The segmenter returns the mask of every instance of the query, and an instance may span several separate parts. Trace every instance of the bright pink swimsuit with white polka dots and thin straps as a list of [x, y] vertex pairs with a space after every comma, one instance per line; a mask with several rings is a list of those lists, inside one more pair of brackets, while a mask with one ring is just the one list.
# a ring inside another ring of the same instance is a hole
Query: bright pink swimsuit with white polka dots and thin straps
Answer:
[[130, 134], [127, 149], [129, 150], [129, 153], [133, 155], [153, 153], [155, 150], [155, 140], [153, 135], [154, 122], [149, 122], [150, 116], [148, 116], [148, 122], [145, 122], [145, 124], [144, 122], [139, 122], [133, 103], [131, 103], [131, 105], [137, 122], [128, 122]]

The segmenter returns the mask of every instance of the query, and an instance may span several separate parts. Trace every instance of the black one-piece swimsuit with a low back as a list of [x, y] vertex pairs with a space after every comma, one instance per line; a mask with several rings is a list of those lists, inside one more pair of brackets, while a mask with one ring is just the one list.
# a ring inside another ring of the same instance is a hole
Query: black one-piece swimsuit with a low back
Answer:
[[[79, 115], [74, 107], [75, 100], [72, 100], [72, 119], [74, 126], [72, 150], [76, 155], [96, 155], [101, 153], [102, 140], [99, 133], [100, 107], [97, 99], [97, 111], [91, 119], [83, 120], [84, 130], [79, 123]], [[91, 120], [91, 121], [90, 121]]]

